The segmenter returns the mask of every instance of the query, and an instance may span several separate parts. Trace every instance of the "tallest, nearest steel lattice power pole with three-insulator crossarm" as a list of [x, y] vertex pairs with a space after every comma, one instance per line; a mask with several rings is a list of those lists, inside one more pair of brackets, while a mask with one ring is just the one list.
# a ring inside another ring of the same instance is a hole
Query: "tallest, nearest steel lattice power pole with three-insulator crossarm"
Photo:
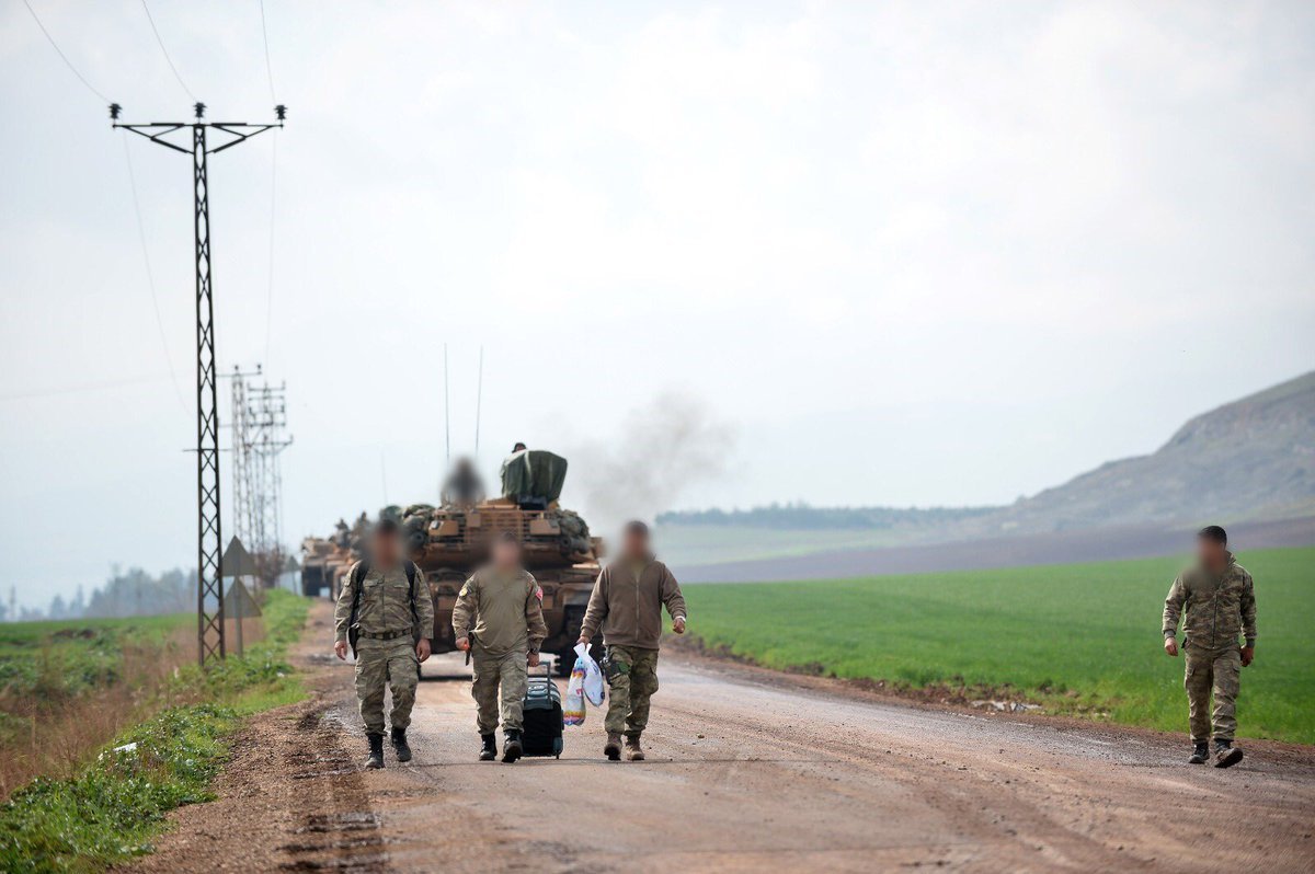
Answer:
[[[192, 106], [193, 121], [154, 121], [142, 125], [120, 124], [122, 106], [109, 105], [114, 127], [130, 130], [153, 143], [192, 156], [192, 227], [196, 254], [196, 644], [201, 665], [224, 658], [224, 573], [220, 538], [220, 407], [214, 373], [214, 301], [210, 285], [210, 180], [209, 155], [243, 143], [256, 134], [283, 127], [287, 108], [274, 108], [276, 121], [268, 125], [203, 121], [205, 104]], [[171, 142], [172, 134], [191, 129], [191, 147]], [[209, 146], [206, 133], [214, 130], [224, 142]]]

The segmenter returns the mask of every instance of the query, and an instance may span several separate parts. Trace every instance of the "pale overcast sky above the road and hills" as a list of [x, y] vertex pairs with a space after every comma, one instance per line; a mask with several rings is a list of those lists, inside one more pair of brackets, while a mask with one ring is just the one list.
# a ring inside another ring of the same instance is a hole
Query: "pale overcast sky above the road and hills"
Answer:
[[[138, 0], [30, 3], [189, 116]], [[150, 8], [210, 118], [271, 116], [255, 0]], [[289, 541], [434, 498], [444, 343], [490, 473], [701, 409], [679, 507], [1009, 502], [1315, 367], [1315, 4], [266, 11], [288, 127], [212, 160], [216, 319], [288, 384]], [[189, 163], [128, 143], [156, 321], [126, 135], [18, 0], [0, 95], [0, 586], [45, 603], [195, 564]]]

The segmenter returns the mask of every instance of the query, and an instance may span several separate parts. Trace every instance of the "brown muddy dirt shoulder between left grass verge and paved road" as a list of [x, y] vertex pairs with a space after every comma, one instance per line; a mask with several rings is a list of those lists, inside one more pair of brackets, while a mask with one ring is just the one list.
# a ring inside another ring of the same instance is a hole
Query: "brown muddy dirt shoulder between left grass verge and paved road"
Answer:
[[360, 750], [348, 749], [333, 712], [351, 689], [342, 672], [325, 669], [330, 620], [331, 605], [317, 601], [291, 653], [308, 699], [247, 720], [213, 785], [216, 800], [174, 811], [156, 852], [121, 870], [383, 870]]

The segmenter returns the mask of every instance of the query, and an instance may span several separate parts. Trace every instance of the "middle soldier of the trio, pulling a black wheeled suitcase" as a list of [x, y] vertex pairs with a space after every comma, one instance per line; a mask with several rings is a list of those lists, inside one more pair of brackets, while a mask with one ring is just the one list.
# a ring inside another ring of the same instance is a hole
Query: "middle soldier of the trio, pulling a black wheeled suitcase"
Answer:
[[[452, 607], [456, 648], [471, 655], [471, 697], [480, 729], [480, 761], [497, 757], [498, 711], [502, 715], [502, 761], [521, 757], [521, 704], [529, 668], [539, 665], [539, 644], [548, 636], [543, 622], [543, 589], [521, 566], [521, 544], [504, 531], [493, 543], [493, 560], [476, 570]], [[501, 691], [501, 707], [498, 704]]]

